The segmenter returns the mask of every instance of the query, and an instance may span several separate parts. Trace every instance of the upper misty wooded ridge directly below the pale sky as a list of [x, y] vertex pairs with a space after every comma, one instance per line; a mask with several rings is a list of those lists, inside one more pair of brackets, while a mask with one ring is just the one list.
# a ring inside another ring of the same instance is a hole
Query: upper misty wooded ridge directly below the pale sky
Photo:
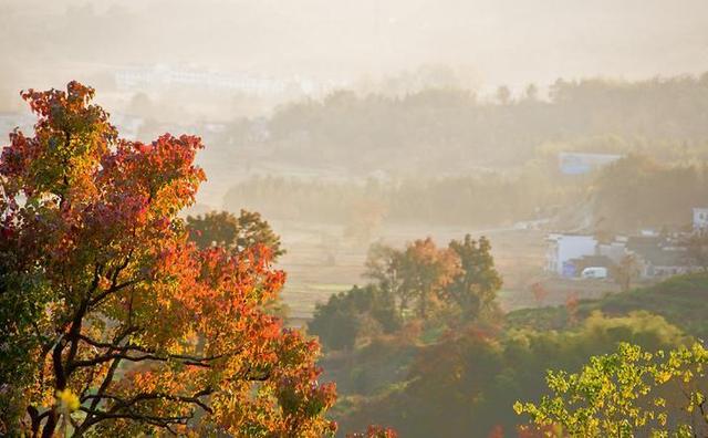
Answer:
[[[496, 101], [455, 88], [414, 94], [341, 91], [236, 121], [219, 139], [231, 154], [353, 175], [479, 173], [562, 150], [708, 156], [708, 74], [641, 82], [559, 80]], [[313, 164], [314, 163], [314, 164]]]

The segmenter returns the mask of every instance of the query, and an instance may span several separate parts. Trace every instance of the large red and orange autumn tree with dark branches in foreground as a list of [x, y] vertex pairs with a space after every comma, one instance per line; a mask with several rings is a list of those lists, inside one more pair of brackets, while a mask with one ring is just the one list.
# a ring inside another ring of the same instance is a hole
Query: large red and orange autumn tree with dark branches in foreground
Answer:
[[200, 249], [177, 216], [200, 139], [121, 139], [93, 95], [22, 93], [34, 135], [0, 156], [8, 432], [332, 434], [317, 344], [261, 310], [284, 281], [273, 251]]

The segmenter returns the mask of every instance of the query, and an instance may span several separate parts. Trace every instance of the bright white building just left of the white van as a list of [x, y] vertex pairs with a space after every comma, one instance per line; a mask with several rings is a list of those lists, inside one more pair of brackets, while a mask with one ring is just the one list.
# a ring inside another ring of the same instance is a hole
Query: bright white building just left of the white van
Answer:
[[575, 267], [570, 261], [584, 255], [595, 255], [597, 240], [585, 234], [550, 234], [548, 238], [546, 269], [561, 277], [574, 277]]

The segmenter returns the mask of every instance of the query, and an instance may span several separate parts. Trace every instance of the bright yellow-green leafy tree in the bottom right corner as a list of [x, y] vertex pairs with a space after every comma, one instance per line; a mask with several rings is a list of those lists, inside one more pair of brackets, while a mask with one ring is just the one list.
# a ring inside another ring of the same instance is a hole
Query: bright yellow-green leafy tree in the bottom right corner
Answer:
[[708, 351], [701, 344], [652, 354], [622, 343], [580, 373], [549, 372], [553, 393], [538, 405], [516, 403], [556, 437], [704, 437]]

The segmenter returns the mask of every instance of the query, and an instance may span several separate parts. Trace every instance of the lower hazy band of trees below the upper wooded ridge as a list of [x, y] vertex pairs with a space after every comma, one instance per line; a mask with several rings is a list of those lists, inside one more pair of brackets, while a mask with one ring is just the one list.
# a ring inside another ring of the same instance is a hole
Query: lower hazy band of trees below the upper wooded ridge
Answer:
[[634, 233], [683, 229], [706, 199], [708, 161], [662, 164], [632, 154], [585, 176], [563, 175], [546, 158], [513, 173], [421, 173], [391, 181], [253, 177], [229, 188], [223, 201], [277, 220], [339, 223], [368, 233], [384, 222], [508, 227], [524, 220]]

